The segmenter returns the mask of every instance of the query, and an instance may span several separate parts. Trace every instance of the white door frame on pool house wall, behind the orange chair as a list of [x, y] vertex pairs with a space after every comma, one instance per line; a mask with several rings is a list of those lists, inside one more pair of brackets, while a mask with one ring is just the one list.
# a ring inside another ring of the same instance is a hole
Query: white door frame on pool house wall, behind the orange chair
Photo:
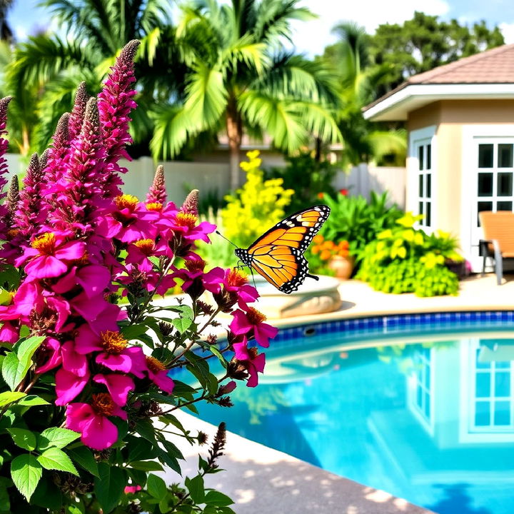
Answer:
[[[486, 139], [514, 138], [514, 124], [476, 124], [462, 128], [460, 171], [460, 248], [473, 271], [482, 270], [478, 256], [475, 210], [478, 202], [478, 143]], [[480, 141], [479, 141], [480, 140]], [[487, 141], [490, 142], [490, 141]], [[508, 197], [505, 197], [508, 198]]]

